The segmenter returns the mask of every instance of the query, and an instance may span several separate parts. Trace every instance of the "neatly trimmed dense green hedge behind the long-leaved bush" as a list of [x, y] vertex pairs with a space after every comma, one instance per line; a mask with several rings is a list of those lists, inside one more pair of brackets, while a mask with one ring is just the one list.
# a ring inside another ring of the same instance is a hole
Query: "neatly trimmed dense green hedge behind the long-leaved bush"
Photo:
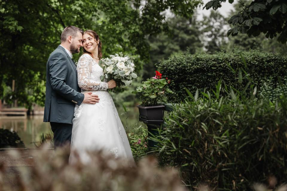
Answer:
[[[247, 68], [242, 57], [247, 63]], [[232, 68], [242, 68], [243, 75], [243, 70], [249, 73], [258, 90], [266, 79], [271, 78], [272, 83], [276, 84], [277, 76], [282, 79], [287, 76], [286, 57], [258, 51], [213, 55], [184, 54], [162, 60], [157, 67], [164, 77], [172, 80], [170, 89], [175, 93], [169, 95], [168, 100], [173, 102], [184, 99], [186, 96], [184, 87], [187, 87], [192, 93], [196, 89], [203, 91], [206, 88], [209, 90], [221, 79], [225, 84], [236, 88], [234, 84], [237, 84], [238, 75], [232, 72], [228, 64]], [[247, 82], [248, 80], [243, 81], [243, 85]]]

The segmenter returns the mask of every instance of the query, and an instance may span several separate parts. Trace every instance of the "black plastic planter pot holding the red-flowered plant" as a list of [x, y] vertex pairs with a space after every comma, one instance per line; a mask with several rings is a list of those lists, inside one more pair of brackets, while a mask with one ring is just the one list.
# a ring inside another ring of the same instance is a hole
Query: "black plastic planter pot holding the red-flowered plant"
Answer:
[[162, 124], [162, 118], [164, 116], [164, 105], [146, 107], [138, 105], [137, 107], [140, 113], [140, 121], [143, 121], [145, 124]]

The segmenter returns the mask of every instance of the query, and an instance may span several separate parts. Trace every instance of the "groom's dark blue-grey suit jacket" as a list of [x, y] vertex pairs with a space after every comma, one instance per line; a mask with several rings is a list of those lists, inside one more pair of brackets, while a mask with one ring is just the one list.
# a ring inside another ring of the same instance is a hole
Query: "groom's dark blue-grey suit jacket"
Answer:
[[75, 104], [84, 100], [80, 91], [77, 68], [59, 45], [47, 62], [44, 122], [73, 124]]

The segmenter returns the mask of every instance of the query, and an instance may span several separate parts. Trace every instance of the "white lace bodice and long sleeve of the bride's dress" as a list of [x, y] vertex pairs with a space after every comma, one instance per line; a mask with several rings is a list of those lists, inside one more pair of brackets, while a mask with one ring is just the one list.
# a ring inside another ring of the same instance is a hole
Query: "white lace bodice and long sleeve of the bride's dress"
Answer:
[[78, 84], [83, 90], [107, 90], [108, 83], [102, 82], [103, 69], [89, 54], [83, 54], [77, 64]]

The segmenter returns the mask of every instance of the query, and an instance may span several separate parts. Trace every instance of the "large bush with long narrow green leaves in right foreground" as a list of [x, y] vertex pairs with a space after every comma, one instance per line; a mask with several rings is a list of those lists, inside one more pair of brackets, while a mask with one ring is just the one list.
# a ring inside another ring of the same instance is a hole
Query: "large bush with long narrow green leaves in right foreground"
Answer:
[[271, 175], [287, 181], [287, 100], [257, 99], [256, 88], [248, 99], [226, 93], [196, 92], [174, 107], [156, 139], [160, 163], [179, 167], [193, 187], [250, 190]]

